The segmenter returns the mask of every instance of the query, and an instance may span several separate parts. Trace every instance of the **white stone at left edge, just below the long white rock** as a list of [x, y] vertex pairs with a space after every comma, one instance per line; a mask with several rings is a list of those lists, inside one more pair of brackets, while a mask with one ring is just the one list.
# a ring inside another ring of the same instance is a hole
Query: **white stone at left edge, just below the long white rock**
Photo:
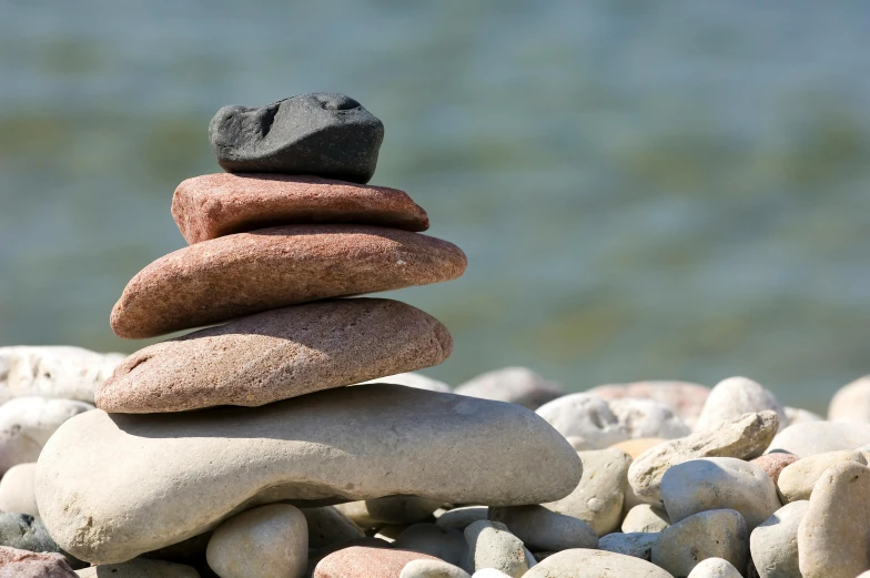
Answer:
[[73, 399], [16, 397], [0, 406], [0, 476], [18, 464], [36, 462], [65, 420], [93, 409]]

